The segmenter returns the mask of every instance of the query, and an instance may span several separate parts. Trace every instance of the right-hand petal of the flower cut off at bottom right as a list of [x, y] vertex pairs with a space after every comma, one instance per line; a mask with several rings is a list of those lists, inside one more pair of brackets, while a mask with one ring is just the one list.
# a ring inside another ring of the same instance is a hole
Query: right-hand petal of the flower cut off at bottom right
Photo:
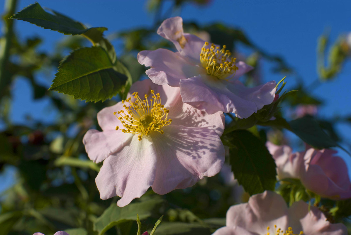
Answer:
[[289, 226], [294, 234], [301, 230], [309, 235], [346, 235], [344, 224], [332, 224], [326, 220], [324, 214], [316, 207], [310, 207], [303, 201], [295, 202], [289, 208]]

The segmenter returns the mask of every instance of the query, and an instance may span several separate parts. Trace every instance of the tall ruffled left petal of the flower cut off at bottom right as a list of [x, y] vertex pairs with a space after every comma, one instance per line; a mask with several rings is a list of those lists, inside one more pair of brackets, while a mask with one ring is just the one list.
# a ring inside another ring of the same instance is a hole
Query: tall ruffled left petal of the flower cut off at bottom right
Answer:
[[226, 226], [239, 226], [257, 234], [267, 232], [267, 227], [274, 224], [287, 229], [288, 208], [282, 196], [272, 191], [265, 191], [250, 197], [248, 203], [229, 208]]

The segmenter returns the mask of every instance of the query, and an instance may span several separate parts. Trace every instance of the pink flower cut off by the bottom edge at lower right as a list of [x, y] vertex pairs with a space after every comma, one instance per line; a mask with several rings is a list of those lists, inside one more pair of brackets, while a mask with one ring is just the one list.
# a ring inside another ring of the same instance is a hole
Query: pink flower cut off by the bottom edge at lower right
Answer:
[[330, 223], [318, 208], [311, 206], [309, 210], [303, 201], [288, 208], [283, 197], [272, 191], [253, 195], [249, 202], [230, 207], [226, 227], [213, 235], [275, 235], [278, 230], [282, 231], [279, 234], [289, 230], [292, 234], [347, 235], [344, 224]]

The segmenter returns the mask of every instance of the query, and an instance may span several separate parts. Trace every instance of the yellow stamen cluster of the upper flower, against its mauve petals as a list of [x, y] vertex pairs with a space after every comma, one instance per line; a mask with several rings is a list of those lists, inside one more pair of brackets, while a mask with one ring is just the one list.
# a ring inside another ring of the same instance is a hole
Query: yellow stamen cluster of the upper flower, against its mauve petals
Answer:
[[235, 65], [236, 58], [230, 57], [232, 53], [225, 50], [226, 45], [223, 45], [221, 50], [213, 43], [210, 48], [206, 49], [206, 46], [208, 46], [208, 42], [201, 48], [200, 62], [208, 75], [227, 80], [228, 76], [235, 74], [238, 69]]

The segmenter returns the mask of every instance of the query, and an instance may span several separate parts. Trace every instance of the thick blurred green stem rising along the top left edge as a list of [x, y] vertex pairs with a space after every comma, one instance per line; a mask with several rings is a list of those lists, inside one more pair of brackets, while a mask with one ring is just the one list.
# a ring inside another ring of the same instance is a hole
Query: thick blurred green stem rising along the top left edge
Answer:
[[[17, 0], [6, 0], [5, 2], [5, 24], [4, 24], [4, 35], [5, 43], [0, 51], [0, 99], [4, 96], [6, 87], [11, 83], [11, 76], [8, 76], [6, 68], [8, 65], [8, 59], [10, 56], [11, 41], [13, 37], [13, 24], [14, 20], [8, 20], [16, 10]], [[6, 76], [7, 75], [7, 76]]]

